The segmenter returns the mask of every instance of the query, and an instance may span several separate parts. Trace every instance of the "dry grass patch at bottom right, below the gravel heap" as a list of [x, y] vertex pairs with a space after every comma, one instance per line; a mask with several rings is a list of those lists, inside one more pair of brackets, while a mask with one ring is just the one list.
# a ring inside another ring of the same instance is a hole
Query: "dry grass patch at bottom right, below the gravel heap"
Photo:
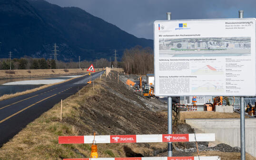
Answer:
[[[199, 155], [220, 156], [221, 160], [241, 160], [238, 152], [202, 151], [199, 152]], [[194, 153], [193, 156], [197, 156], [197, 153]], [[256, 160], [256, 158], [246, 153], [246, 160]]]

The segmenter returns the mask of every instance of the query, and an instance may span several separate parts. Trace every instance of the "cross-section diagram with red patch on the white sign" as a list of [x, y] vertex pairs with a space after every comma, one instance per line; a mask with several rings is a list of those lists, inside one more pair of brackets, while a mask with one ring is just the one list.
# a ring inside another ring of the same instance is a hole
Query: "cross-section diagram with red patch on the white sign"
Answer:
[[[194, 68], [192, 66], [192, 68]], [[200, 68], [191, 69], [192, 75], [223, 75], [223, 66], [205, 65]]]

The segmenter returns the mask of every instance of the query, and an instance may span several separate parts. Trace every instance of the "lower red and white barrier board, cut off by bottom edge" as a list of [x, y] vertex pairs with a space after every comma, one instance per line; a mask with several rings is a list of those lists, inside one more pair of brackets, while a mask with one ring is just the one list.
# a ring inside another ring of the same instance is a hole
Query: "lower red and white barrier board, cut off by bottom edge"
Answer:
[[[220, 160], [218, 156], [203, 156], [200, 160]], [[90, 160], [89, 158], [63, 160]], [[91, 158], [91, 160], [199, 160], [198, 157], [127, 157], [127, 158]]]

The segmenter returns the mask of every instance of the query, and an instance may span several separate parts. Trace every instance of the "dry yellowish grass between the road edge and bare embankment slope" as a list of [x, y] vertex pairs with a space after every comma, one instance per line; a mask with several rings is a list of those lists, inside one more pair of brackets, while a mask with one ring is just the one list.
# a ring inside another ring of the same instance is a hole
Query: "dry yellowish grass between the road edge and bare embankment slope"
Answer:
[[[98, 92], [98, 85], [88, 88], [90, 94]], [[80, 90], [80, 96], [87, 96], [85, 89]], [[63, 101], [63, 119], [77, 118], [81, 113], [79, 108], [79, 95], [71, 95]], [[43, 113], [34, 122], [19, 132], [12, 140], [0, 148], [0, 160], [61, 160], [63, 158], [89, 157], [89, 144], [58, 144], [58, 136], [63, 134], [78, 135], [78, 128], [67, 122], [60, 122], [60, 104], [56, 104], [48, 112]], [[81, 124], [86, 126], [86, 124]], [[91, 127], [91, 126], [86, 126]], [[101, 153], [104, 155], [104, 153]], [[108, 156], [108, 155], [104, 155]]]

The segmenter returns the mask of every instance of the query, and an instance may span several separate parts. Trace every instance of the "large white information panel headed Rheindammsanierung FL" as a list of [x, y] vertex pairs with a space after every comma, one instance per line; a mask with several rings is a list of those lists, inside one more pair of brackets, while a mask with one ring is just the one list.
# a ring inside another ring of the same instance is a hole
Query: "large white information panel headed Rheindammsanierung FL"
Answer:
[[157, 96], [256, 95], [256, 19], [154, 22]]

